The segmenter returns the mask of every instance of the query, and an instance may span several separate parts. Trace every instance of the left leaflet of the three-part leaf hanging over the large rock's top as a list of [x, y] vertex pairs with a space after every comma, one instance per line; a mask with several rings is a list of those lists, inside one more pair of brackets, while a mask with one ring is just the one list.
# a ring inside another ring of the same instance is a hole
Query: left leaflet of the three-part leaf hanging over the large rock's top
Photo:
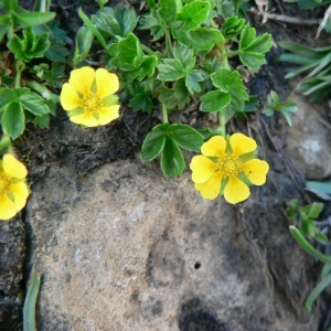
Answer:
[[169, 126], [170, 124], [158, 125], [147, 135], [140, 152], [142, 162], [153, 160], [162, 151], [166, 143], [164, 131]]

